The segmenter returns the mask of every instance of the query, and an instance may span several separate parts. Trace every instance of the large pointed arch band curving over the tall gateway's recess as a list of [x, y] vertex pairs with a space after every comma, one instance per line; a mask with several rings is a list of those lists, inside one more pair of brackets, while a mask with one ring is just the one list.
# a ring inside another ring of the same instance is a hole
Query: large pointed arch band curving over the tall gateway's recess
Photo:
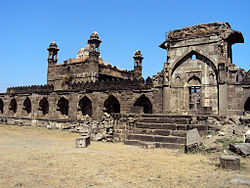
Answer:
[[172, 72], [171, 72], [171, 76], [173, 75], [174, 71], [182, 64], [184, 63], [186, 60], [188, 59], [192, 59], [192, 56], [195, 55], [196, 59], [199, 59], [201, 61], [203, 61], [204, 63], [206, 63], [208, 66], [210, 66], [215, 75], [216, 75], [216, 80], [218, 77], [218, 71], [217, 68], [215, 66], [215, 64], [213, 63], [213, 61], [211, 61], [206, 55], [202, 54], [201, 52], [197, 52], [195, 50], [189, 50], [187, 53], [185, 53], [185, 55], [183, 55], [182, 57], [178, 58], [174, 63], [173, 63], [173, 68], [172, 68]]

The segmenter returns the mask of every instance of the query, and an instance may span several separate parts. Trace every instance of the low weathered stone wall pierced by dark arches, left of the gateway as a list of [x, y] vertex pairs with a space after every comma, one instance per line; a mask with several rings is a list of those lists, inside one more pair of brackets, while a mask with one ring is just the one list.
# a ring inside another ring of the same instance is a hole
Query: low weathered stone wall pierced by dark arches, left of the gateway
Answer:
[[[117, 113], [130, 113], [131, 108], [136, 103], [136, 101], [143, 96], [151, 104], [150, 113], [160, 113], [162, 112], [162, 100], [161, 100], [161, 90], [160, 89], [145, 89], [140, 90], [123, 90], [123, 91], [54, 91], [49, 93], [23, 93], [23, 94], [3, 94], [0, 96], [3, 101], [3, 113], [0, 114], [1, 117], [20, 117], [20, 118], [32, 118], [32, 119], [49, 119], [49, 120], [81, 120], [83, 114], [81, 107], [79, 106], [79, 101], [86, 97], [91, 101], [92, 105], [92, 118], [99, 120], [105, 110], [105, 102], [110, 97], [114, 97], [119, 104], [119, 112]], [[31, 107], [28, 113], [25, 110], [24, 101], [29, 98]], [[43, 113], [41, 107], [41, 101], [46, 100], [48, 102], [48, 112]], [[60, 111], [59, 101], [65, 99], [68, 102], [68, 108], [65, 112]], [[142, 103], [139, 105], [143, 105]], [[16, 101], [16, 112], [10, 110], [11, 100]], [[112, 103], [112, 101], [111, 101]], [[109, 105], [109, 104], [108, 104]], [[112, 104], [110, 104], [112, 105]], [[115, 113], [112, 111], [112, 113]]]

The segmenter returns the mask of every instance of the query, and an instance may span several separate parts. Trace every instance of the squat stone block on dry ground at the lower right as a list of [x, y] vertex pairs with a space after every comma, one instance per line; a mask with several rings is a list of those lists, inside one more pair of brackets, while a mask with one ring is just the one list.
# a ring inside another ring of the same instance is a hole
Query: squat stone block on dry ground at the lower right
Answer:
[[220, 166], [226, 169], [239, 170], [240, 158], [233, 155], [222, 155], [220, 157]]

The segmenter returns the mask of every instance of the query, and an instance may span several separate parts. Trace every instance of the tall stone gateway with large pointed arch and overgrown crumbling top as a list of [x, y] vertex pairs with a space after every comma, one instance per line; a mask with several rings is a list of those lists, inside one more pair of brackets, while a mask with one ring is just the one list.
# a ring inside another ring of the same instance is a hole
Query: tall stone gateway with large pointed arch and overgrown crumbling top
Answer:
[[243, 95], [248, 98], [243, 86], [249, 85], [249, 81], [244, 84], [239, 81], [246, 74], [232, 64], [232, 45], [242, 42], [242, 34], [232, 30], [228, 23], [202, 24], [170, 32], [160, 45], [168, 50], [163, 70], [163, 111], [242, 114]]

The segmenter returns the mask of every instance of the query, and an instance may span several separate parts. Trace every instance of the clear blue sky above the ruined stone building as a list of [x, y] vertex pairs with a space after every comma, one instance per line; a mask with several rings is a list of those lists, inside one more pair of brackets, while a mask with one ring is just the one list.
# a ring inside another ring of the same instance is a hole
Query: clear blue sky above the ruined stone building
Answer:
[[249, 70], [249, 0], [0, 0], [0, 92], [46, 84], [53, 40], [62, 63], [97, 31], [105, 62], [131, 70], [141, 50], [146, 78], [163, 68], [166, 32], [216, 21], [242, 32], [245, 43], [233, 45], [233, 63]]

